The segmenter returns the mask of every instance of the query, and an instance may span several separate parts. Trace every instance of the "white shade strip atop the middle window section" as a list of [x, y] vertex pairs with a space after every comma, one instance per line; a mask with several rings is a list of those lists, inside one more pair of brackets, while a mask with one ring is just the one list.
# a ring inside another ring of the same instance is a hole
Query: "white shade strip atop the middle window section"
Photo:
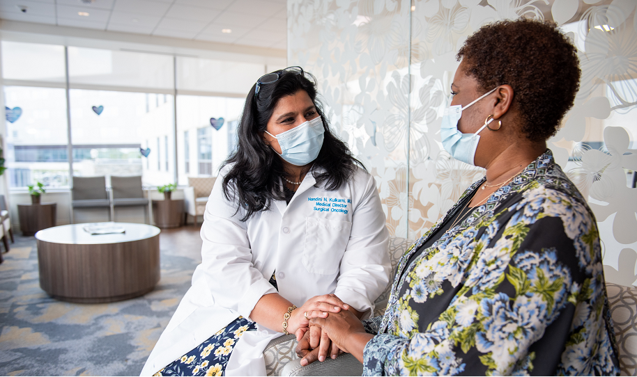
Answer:
[[68, 47], [71, 84], [171, 90], [173, 61], [159, 54]]

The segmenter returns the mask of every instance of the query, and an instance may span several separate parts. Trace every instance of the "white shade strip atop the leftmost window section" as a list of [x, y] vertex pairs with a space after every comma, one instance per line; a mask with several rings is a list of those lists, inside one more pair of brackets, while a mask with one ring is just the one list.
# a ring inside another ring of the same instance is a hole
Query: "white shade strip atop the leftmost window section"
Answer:
[[2, 77], [63, 83], [64, 47], [2, 41]]

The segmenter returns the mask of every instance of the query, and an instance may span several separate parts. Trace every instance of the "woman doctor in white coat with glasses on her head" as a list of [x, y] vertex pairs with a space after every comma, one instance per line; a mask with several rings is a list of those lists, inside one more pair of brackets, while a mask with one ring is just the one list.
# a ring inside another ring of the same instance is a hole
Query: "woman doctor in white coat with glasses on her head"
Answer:
[[373, 312], [391, 269], [376, 183], [330, 132], [300, 67], [250, 90], [201, 238], [203, 262], [142, 376], [263, 376], [268, 342], [300, 335], [307, 316]]

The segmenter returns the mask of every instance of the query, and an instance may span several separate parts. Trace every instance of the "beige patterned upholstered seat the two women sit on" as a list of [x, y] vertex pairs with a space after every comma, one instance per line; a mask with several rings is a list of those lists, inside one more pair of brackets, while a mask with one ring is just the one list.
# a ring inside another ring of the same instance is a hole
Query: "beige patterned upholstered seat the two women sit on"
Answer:
[[[392, 268], [396, 272], [397, 263], [403, 253], [413, 243], [400, 237], [391, 237], [389, 254]], [[393, 274], [392, 274], [393, 276]], [[382, 315], [389, 299], [390, 284], [374, 302], [374, 315]], [[611, 316], [615, 326], [615, 339], [619, 348], [622, 376], [637, 375], [637, 288], [606, 282], [608, 301], [611, 304]], [[324, 362], [313, 362], [305, 367], [296, 355], [297, 346], [294, 335], [284, 335], [273, 339], [263, 351], [268, 376], [360, 376], [362, 364], [349, 353], [336, 359], [326, 358]]]

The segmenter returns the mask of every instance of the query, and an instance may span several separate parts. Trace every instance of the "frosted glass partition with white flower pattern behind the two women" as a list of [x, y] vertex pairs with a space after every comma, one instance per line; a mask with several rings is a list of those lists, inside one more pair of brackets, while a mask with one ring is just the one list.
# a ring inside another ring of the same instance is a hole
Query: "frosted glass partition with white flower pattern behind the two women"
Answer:
[[376, 179], [387, 228], [410, 239], [484, 175], [440, 142], [463, 41], [500, 19], [556, 22], [582, 79], [548, 147], [594, 211], [606, 278], [636, 282], [636, 1], [289, 0], [288, 17], [288, 64], [316, 75], [332, 127]]

